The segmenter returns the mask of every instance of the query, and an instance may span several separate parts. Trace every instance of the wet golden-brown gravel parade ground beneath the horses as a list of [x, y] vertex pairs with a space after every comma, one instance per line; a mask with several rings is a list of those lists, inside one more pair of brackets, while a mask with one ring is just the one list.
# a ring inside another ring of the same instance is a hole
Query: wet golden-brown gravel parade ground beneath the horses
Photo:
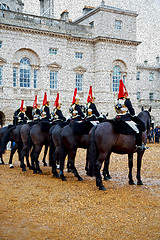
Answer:
[[[0, 240], [160, 239], [160, 144], [148, 144], [142, 164], [143, 186], [128, 184], [127, 155], [111, 156], [106, 191], [85, 174], [85, 151], [78, 150], [77, 181], [65, 170], [67, 181], [0, 166]], [[10, 151], [4, 156], [8, 163]], [[42, 158], [41, 158], [42, 159]], [[136, 154], [133, 177], [136, 182]]]

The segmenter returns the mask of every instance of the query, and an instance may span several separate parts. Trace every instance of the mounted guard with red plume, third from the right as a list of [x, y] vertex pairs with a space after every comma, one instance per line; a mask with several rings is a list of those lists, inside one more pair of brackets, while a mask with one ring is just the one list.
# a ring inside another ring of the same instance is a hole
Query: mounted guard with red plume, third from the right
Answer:
[[69, 109], [71, 116], [71, 121], [82, 121], [85, 118], [85, 115], [81, 109], [81, 106], [79, 105], [79, 97], [77, 96], [77, 88], [74, 90], [74, 96], [72, 105]]

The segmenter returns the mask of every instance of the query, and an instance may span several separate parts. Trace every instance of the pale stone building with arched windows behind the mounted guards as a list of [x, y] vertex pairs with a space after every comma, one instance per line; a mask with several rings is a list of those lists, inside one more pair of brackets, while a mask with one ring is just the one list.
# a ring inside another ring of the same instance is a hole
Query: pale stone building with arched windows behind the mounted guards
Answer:
[[[14, 8], [11, 2], [15, 2]], [[137, 92], [143, 92], [136, 80], [137, 71], [150, 71], [136, 63], [140, 44], [136, 40], [137, 13], [108, 7], [102, 1], [96, 8], [85, 6], [83, 16], [71, 22], [67, 10], [61, 19], [53, 18], [53, 3], [40, 0], [42, 16], [22, 13], [22, 1], [8, 1], [8, 8], [0, 9], [1, 125], [12, 122], [22, 99], [28, 109], [35, 95], [42, 104], [44, 92], [51, 110], [59, 92], [62, 111], [69, 117], [74, 88], [78, 88], [81, 104], [85, 104], [90, 85], [98, 110], [113, 118], [121, 78], [136, 113], [142, 104], [146, 108], [152, 105], [153, 119], [160, 123], [159, 95], [152, 102], [137, 99]], [[159, 89], [159, 68], [154, 71], [154, 89]]]

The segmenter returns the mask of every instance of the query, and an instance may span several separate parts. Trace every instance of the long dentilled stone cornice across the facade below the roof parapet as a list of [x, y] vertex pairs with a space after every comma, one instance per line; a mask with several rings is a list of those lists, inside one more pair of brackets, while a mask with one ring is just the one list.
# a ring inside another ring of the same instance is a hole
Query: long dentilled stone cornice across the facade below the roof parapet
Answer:
[[51, 37], [55, 37], [55, 38], [63, 38], [63, 39], [73, 41], [73, 42], [74, 41], [75, 42], [85, 42], [85, 43], [89, 43], [89, 44], [97, 44], [99, 42], [108, 42], [108, 43], [112, 43], [112, 44], [138, 46], [141, 43], [138, 41], [132, 41], [132, 40], [127, 40], [127, 39], [118, 39], [118, 38], [102, 37], [102, 36], [98, 36], [95, 38], [78, 37], [78, 36], [73, 36], [73, 35], [67, 34], [67, 33], [40, 30], [40, 29], [15, 26], [15, 25], [10, 25], [10, 24], [3, 24], [3, 23], [0, 23], [0, 28], [4, 29], [4, 30], [8, 30], [8, 31], [14, 31], [14, 32], [20, 31], [20, 32], [30, 33], [30, 34], [46, 35], [46, 36], [51, 36]]

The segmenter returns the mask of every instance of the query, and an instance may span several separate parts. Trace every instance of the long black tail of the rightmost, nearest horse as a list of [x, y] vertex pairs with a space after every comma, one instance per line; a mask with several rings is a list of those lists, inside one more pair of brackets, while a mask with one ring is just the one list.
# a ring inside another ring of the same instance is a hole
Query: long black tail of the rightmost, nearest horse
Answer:
[[93, 127], [91, 130], [90, 145], [88, 150], [88, 175], [93, 177], [95, 176], [95, 165], [98, 158], [98, 148], [95, 139], [95, 131], [97, 126]]

